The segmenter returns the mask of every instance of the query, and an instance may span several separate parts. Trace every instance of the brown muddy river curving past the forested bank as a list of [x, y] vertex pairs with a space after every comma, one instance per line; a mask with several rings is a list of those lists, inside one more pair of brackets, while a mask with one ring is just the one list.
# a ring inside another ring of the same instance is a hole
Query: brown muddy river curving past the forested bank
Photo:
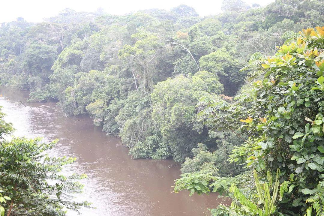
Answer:
[[83, 215], [209, 215], [207, 208], [226, 202], [216, 194], [189, 197], [188, 191], [171, 193], [180, 175], [180, 166], [172, 160], [134, 160], [120, 139], [94, 127], [88, 116], [65, 117], [55, 103], [26, 102], [28, 97], [25, 91], [0, 88], [5, 120], [13, 123], [15, 136], [43, 137], [44, 142], [60, 139], [49, 152], [51, 156], [77, 158], [64, 168], [64, 174], [88, 176], [82, 181], [83, 194], [76, 199], [90, 201], [96, 209], [82, 210]]

